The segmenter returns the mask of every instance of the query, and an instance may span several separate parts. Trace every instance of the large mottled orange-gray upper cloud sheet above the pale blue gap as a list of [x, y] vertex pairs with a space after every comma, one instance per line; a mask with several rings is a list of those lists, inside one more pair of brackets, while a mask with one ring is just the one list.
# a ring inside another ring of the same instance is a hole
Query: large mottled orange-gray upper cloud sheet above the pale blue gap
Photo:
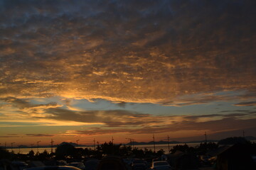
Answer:
[[255, 94], [253, 4], [2, 0], [0, 95], [169, 103]]

